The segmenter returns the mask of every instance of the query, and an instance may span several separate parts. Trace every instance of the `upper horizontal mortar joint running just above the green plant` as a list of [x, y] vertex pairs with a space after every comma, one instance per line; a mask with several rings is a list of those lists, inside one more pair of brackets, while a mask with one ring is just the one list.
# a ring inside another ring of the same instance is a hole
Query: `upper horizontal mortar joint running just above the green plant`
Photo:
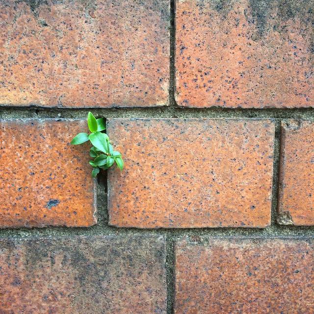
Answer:
[[[0, 116], [33, 118], [85, 118], [88, 111], [107, 118], [269, 118], [269, 119], [314, 119], [314, 108], [252, 109], [252, 108], [40, 108], [2, 107]], [[31, 116], [30, 116], [31, 114]]]

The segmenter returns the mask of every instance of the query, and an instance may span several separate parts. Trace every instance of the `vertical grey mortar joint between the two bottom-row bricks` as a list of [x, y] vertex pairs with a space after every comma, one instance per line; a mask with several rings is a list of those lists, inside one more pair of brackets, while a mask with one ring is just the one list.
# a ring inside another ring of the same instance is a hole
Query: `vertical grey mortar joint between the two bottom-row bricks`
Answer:
[[166, 283], [167, 283], [167, 312], [166, 314], [174, 313], [174, 262], [175, 240], [171, 237], [171, 230], [166, 233]]

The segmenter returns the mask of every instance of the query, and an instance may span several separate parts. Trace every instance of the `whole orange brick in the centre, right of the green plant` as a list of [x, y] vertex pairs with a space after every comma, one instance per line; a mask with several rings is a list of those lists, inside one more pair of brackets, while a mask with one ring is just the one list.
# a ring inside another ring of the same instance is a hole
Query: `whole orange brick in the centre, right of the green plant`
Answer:
[[137, 228], [265, 227], [270, 223], [270, 120], [116, 119], [125, 158], [108, 171], [109, 224]]

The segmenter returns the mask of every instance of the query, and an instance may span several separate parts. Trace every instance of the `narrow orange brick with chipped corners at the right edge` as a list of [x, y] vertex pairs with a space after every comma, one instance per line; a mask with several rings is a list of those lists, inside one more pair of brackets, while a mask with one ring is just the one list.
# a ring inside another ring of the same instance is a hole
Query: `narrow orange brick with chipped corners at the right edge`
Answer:
[[314, 225], [314, 123], [282, 122], [278, 222]]

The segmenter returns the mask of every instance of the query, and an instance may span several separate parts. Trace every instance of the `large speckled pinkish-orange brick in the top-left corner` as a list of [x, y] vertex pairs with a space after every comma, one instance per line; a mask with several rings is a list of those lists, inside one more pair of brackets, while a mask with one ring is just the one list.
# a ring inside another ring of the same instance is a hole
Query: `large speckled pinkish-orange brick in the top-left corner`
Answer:
[[0, 104], [167, 105], [169, 3], [0, 0]]

